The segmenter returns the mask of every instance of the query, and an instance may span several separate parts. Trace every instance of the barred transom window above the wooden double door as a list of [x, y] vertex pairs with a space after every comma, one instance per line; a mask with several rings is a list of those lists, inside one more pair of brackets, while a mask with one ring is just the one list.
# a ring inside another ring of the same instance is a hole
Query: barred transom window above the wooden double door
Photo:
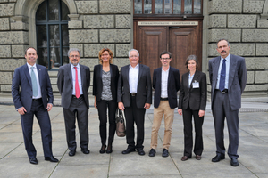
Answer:
[[138, 14], [201, 14], [202, 0], [134, 0], [134, 15]]

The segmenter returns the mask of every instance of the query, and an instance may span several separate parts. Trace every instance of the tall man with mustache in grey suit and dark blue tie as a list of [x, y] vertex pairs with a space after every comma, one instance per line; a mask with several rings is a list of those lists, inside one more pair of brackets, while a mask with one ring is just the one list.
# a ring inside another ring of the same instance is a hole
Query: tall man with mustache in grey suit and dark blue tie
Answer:
[[229, 131], [229, 148], [231, 166], [239, 166], [239, 108], [241, 94], [247, 84], [245, 59], [230, 54], [230, 44], [226, 39], [217, 43], [217, 51], [221, 56], [209, 61], [209, 78], [211, 83], [211, 101], [214, 116], [216, 137], [216, 156], [213, 162], [225, 158], [223, 141], [224, 118], [226, 117]]

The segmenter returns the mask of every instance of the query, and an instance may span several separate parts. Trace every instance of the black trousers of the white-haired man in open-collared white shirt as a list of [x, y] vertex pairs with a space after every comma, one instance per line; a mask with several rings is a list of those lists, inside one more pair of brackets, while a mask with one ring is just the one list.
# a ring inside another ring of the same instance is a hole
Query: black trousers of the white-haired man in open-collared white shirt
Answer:
[[[129, 149], [143, 149], [144, 142], [144, 115], [146, 109], [138, 109], [136, 105], [136, 96], [130, 97], [130, 107], [125, 108], [126, 117], [126, 138]], [[134, 122], [137, 126], [137, 142], [135, 146]]]

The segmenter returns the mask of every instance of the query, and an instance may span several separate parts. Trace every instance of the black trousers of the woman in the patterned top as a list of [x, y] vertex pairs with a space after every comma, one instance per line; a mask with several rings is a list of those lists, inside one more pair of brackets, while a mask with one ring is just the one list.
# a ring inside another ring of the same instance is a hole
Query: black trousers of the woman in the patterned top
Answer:
[[106, 124], [107, 124], [107, 108], [108, 108], [108, 115], [109, 115], [108, 144], [112, 144], [116, 129], [115, 112], [117, 109], [117, 102], [100, 100], [96, 102], [96, 105], [99, 117], [99, 134], [101, 137], [102, 145], [106, 145], [106, 138], [107, 138]]

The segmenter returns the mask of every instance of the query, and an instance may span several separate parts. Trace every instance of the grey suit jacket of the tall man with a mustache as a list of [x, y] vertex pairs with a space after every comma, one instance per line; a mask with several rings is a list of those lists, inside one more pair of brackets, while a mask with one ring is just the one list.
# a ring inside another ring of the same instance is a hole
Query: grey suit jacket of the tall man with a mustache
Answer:
[[[211, 106], [214, 103], [214, 91], [217, 85], [218, 70], [220, 66], [221, 56], [218, 56], [209, 61], [209, 78], [211, 84]], [[247, 84], [247, 69], [245, 59], [230, 54], [230, 70], [228, 83], [228, 97], [230, 108], [238, 110], [241, 108], [241, 94]]]

